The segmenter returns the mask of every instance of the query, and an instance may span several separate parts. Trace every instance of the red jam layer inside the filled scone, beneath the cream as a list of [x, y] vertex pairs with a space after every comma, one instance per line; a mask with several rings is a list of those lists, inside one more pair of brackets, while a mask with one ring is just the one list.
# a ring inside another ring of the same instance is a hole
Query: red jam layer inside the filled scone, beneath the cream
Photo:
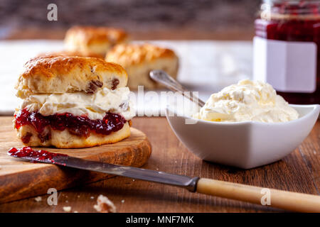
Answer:
[[56, 131], [67, 129], [73, 135], [87, 138], [91, 132], [109, 135], [122, 129], [124, 123], [127, 122], [121, 115], [112, 113], [105, 114], [102, 120], [92, 120], [87, 116], [73, 116], [68, 113], [43, 116], [38, 112], [29, 112], [26, 109], [19, 111], [14, 117], [17, 129], [25, 125], [33, 126], [43, 140], [50, 138], [48, 134], [43, 135], [47, 126]]

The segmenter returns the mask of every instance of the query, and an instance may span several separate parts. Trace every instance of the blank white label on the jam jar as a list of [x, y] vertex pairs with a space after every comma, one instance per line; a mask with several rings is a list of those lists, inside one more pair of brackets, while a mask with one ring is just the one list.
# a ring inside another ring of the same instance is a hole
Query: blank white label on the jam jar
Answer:
[[279, 92], [316, 91], [316, 43], [253, 38], [253, 78]]

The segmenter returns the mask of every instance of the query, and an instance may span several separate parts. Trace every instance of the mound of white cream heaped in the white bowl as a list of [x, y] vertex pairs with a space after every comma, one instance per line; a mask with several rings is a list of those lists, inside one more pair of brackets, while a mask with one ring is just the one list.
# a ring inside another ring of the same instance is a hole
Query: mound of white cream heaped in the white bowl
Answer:
[[245, 79], [211, 94], [193, 117], [206, 121], [286, 122], [299, 114], [270, 84]]

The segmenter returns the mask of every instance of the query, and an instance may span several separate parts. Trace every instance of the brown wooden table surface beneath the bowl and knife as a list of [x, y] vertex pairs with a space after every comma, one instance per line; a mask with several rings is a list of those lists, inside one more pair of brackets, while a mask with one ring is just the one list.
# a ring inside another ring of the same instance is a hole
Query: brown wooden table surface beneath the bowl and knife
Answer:
[[[166, 118], [134, 118], [133, 126], [146, 133], [152, 145], [151, 157], [144, 165], [146, 169], [320, 194], [320, 121], [317, 121], [304, 143], [290, 155], [279, 162], [252, 170], [240, 170], [199, 159], [179, 142]], [[72, 211], [95, 212], [93, 205], [100, 194], [108, 196], [117, 206], [118, 212], [281, 211], [267, 206], [193, 194], [177, 187], [113, 177], [58, 192], [57, 206], [49, 206], [49, 195], [43, 195], [42, 201], [30, 198], [0, 204], [0, 212], [63, 212], [63, 206], [71, 206]]]

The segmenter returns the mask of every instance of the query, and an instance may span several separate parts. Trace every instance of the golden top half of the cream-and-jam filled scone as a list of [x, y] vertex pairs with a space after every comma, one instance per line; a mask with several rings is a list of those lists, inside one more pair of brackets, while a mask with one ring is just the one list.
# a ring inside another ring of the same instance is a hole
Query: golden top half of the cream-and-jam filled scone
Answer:
[[128, 79], [123, 67], [95, 57], [35, 57], [24, 68], [15, 87], [21, 99], [29, 94], [92, 94], [97, 88], [125, 87]]

